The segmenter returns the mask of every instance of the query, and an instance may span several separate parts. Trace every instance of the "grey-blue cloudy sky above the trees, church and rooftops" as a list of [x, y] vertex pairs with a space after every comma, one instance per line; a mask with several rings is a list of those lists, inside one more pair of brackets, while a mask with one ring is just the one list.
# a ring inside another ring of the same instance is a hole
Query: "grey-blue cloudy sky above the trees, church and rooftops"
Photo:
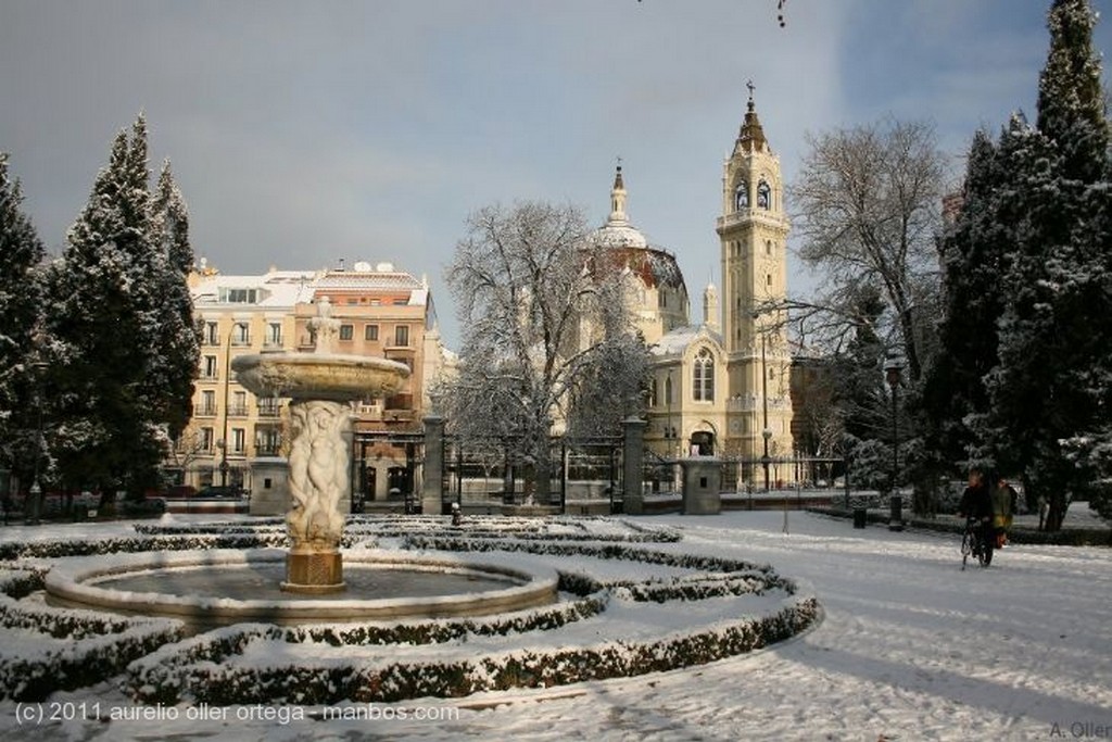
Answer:
[[631, 218], [679, 256], [697, 307], [721, 283], [746, 80], [790, 181], [806, 132], [886, 115], [932, 121], [956, 178], [976, 128], [1033, 117], [1049, 6], [790, 0], [782, 29], [776, 0], [0, 0], [0, 150], [60, 253], [143, 110], [198, 256], [391, 260], [428, 275], [454, 345], [444, 266], [469, 212], [543, 199], [602, 224], [620, 156]]

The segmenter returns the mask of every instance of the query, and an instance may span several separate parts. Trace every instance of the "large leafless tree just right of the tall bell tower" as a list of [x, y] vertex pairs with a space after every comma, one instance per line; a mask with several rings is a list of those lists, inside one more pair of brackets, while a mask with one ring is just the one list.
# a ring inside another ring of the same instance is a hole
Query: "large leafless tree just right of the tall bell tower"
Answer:
[[[933, 128], [887, 119], [807, 137], [811, 151], [790, 190], [800, 256], [823, 269], [825, 296], [807, 310], [834, 335], [858, 318], [846, 308], [865, 289], [881, 291], [885, 326], [874, 328], [901, 348], [912, 380], [923, 362], [919, 325], [935, 301], [943, 156]], [[821, 319], [818, 319], [821, 318]]]

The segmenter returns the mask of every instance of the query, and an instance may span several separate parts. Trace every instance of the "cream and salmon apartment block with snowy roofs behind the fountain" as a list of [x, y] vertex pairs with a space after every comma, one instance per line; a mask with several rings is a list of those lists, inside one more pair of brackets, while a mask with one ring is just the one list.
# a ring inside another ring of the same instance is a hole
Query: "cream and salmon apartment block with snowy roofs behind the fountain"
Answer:
[[239, 355], [310, 352], [307, 321], [325, 296], [342, 323], [339, 353], [386, 357], [413, 369], [398, 393], [354, 405], [357, 434], [383, 439], [366, 464], [357, 456], [360, 468], [371, 469], [358, 473], [365, 483], [358, 496], [385, 499], [398, 471], [413, 471], [405, 448], [388, 438], [420, 431], [427, 389], [443, 363], [425, 280], [391, 264], [356, 263], [351, 269], [271, 268], [257, 276], [202, 266], [189, 284], [202, 332], [200, 367], [192, 421], [167, 462], [182, 484], [242, 487], [258, 503], [252, 512], [285, 509], [289, 400], [256, 398], [236, 382], [231, 362]]

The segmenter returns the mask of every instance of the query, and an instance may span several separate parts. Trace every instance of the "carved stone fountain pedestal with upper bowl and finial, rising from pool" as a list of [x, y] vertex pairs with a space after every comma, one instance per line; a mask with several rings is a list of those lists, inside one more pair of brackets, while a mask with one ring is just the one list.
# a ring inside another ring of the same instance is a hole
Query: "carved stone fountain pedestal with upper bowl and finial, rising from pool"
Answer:
[[327, 297], [317, 303], [317, 313], [309, 319], [312, 353], [264, 353], [231, 363], [239, 383], [256, 396], [291, 400], [286, 526], [294, 543], [281, 588], [309, 594], [345, 587], [339, 504], [350, 494], [349, 403], [391, 394], [409, 376], [405, 364], [336, 353], [340, 321], [332, 318]]

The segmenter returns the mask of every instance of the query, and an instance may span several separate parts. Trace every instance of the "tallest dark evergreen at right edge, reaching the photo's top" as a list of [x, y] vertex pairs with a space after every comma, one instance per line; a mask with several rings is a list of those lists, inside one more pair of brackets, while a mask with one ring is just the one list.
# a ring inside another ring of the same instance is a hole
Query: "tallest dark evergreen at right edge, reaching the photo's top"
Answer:
[[1100, 497], [1109, 434], [1112, 311], [1109, 125], [1085, 0], [1056, 0], [1040, 80], [1039, 125], [1013, 125], [1001, 154], [1010, 188], [997, 218], [1015, 226], [1000, 320], [1000, 366], [989, 377], [985, 432], [1002, 464], [1058, 528], [1073, 496]]

